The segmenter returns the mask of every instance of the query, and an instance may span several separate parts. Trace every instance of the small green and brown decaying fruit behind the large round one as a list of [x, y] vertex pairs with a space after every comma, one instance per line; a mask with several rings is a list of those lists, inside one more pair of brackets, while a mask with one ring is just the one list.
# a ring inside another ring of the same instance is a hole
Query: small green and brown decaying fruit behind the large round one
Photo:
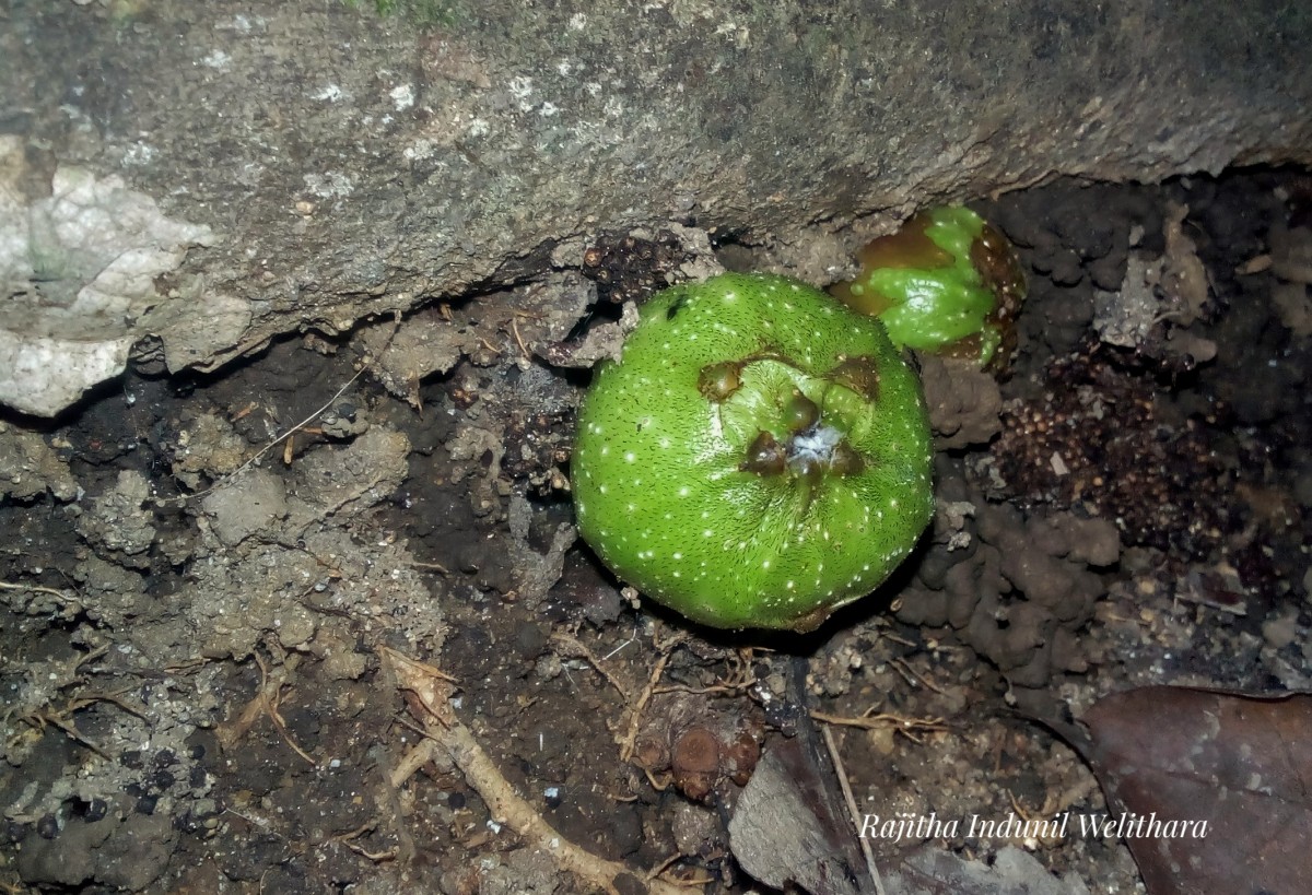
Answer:
[[895, 345], [1006, 367], [1025, 273], [1006, 238], [976, 213], [922, 211], [857, 260], [857, 277], [829, 291], [883, 320]]

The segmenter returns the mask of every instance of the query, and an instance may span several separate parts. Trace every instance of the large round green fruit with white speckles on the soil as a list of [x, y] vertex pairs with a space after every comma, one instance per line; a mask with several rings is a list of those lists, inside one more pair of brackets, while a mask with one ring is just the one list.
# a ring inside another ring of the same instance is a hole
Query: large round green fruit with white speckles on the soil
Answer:
[[640, 308], [579, 412], [579, 530], [622, 580], [714, 627], [811, 630], [933, 513], [920, 379], [883, 324], [783, 277]]

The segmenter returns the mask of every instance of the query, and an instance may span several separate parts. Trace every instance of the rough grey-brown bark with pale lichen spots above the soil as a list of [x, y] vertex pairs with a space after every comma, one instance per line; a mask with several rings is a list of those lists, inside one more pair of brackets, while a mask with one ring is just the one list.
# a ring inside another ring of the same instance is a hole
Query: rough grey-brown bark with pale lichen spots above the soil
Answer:
[[169, 283], [192, 297], [172, 367], [522, 281], [604, 228], [716, 228], [816, 278], [817, 235], [854, 245], [930, 201], [1312, 156], [1298, 3], [438, 12], [9, 0], [0, 130], [47, 180], [122, 173], [213, 228]]

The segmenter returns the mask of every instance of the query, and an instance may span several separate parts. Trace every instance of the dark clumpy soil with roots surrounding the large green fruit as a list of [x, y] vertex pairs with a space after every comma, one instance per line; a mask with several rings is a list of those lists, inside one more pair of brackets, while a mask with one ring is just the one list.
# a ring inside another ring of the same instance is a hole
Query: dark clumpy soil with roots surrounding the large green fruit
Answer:
[[[622, 891], [653, 870], [750, 888], [726, 824], [779, 736], [789, 652], [861, 811], [1102, 810], [1021, 713], [1312, 686], [1309, 202], [1262, 171], [979, 203], [1030, 278], [1013, 367], [924, 361], [934, 525], [807, 638], [690, 629], [575, 539], [575, 348], [614, 343], [609, 299], [705, 255], [677, 224], [210, 377], [143, 357], [52, 424], [0, 421], [0, 885], [590, 891], [492, 816], [467, 757], [425, 751], [441, 734], [388, 656], [451, 678], [457, 730], [560, 837], [628, 866]], [[872, 845], [891, 869], [920, 841]], [[1054, 891], [1138, 886], [1114, 840], [932, 845], [1019, 845]]]

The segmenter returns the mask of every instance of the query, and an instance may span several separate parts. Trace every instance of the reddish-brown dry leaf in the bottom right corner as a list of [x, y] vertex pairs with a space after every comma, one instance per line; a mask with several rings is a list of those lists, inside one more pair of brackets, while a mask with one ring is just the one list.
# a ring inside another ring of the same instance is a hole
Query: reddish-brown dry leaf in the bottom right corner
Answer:
[[1082, 722], [1152, 895], [1312, 891], [1312, 697], [1147, 686]]

